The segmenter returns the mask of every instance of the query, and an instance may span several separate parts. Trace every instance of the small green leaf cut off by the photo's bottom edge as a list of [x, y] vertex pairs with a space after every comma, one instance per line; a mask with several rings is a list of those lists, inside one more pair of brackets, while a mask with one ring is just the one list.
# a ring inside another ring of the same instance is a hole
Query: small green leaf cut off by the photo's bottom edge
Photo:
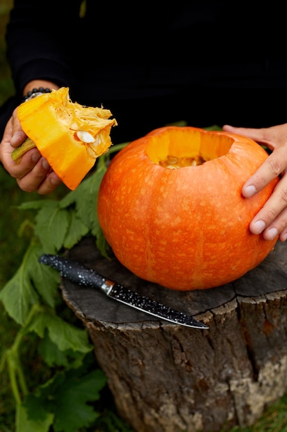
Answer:
[[28, 418], [28, 410], [24, 404], [17, 406], [16, 432], [49, 432], [53, 424], [54, 414], [45, 411], [44, 404], [34, 404], [39, 420]]

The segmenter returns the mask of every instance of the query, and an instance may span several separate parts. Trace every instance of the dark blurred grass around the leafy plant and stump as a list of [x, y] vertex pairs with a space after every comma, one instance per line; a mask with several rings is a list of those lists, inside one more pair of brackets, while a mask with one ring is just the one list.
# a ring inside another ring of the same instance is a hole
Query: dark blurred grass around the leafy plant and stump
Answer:
[[[12, 1], [1, 0], [0, 5], [0, 105], [14, 92], [12, 79], [10, 77], [10, 68], [5, 59], [5, 39], [4, 31], [8, 20], [8, 12], [12, 6]], [[17, 183], [6, 171], [0, 166], [0, 184], [1, 187], [1, 207], [0, 207], [0, 289], [12, 277], [19, 264], [21, 263], [23, 253], [30, 241], [29, 225], [24, 224], [29, 219], [28, 211], [21, 212], [17, 210], [17, 205], [32, 201], [34, 199], [45, 199], [37, 193], [24, 193]], [[61, 194], [61, 190], [59, 192]], [[32, 214], [31, 214], [32, 216]], [[19, 235], [21, 233], [21, 235]], [[0, 326], [0, 356], [9, 348], [11, 341], [14, 340], [19, 328], [17, 324], [7, 315], [0, 303], [1, 326]], [[0, 385], [0, 432], [14, 432], [14, 400], [10, 391], [9, 377], [6, 373], [1, 373]], [[110, 395], [107, 395], [109, 399]], [[104, 403], [105, 401], [103, 401]], [[107, 404], [108, 405], [108, 404]], [[108, 422], [112, 425], [117, 424], [118, 431], [129, 431], [117, 420], [113, 407], [107, 406], [106, 410], [109, 415], [102, 421], [102, 431], [107, 431]], [[100, 425], [99, 425], [100, 426]], [[113, 427], [113, 426], [111, 426]], [[109, 431], [116, 432], [114, 429]], [[100, 429], [97, 429], [100, 432]], [[222, 431], [223, 432], [223, 431]], [[287, 395], [281, 397], [275, 404], [266, 409], [266, 412], [253, 426], [246, 428], [235, 427], [231, 432], [287, 432]]]

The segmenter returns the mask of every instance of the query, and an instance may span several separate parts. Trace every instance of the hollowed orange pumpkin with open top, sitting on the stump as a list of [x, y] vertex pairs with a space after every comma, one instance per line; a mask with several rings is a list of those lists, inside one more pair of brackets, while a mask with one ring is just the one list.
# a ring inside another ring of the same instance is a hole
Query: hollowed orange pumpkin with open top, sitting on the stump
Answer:
[[277, 242], [248, 226], [278, 179], [242, 196], [267, 156], [252, 139], [188, 126], [129, 143], [111, 160], [98, 193], [99, 224], [118, 261], [178, 291], [213, 288], [250, 271]]

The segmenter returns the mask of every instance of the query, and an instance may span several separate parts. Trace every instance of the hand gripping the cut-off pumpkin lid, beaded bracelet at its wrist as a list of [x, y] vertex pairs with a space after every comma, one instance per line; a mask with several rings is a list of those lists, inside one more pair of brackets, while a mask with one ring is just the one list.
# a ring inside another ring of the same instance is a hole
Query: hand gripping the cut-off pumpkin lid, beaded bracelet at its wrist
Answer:
[[36, 190], [41, 195], [51, 193], [61, 180], [51, 169], [47, 160], [41, 156], [37, 148], [28, 150], [21, 162], [13, 161], [11, 153], [25, 141], [27, 135], [23, 132], [17, 119], [17, 108], [8, 121], [0, 143], [0, 161], [6, 171], [15, 179], [17, 184], [25, 192]]

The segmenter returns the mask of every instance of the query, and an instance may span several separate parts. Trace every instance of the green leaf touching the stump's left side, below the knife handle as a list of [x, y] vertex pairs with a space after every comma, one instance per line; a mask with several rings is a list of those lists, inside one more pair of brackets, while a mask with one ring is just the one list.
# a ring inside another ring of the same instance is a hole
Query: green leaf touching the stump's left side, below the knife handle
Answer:
[[52, 313], [42, 312], [34, 316], [29, 326], [30, 331], [35, 331], [42, 338], [45, 335], [45, 329], [47, 329], [50, 340], [61, 351], [72, 349], [88, 353], [93, 348], [89, 343], [86, 330], [75, 327]]

